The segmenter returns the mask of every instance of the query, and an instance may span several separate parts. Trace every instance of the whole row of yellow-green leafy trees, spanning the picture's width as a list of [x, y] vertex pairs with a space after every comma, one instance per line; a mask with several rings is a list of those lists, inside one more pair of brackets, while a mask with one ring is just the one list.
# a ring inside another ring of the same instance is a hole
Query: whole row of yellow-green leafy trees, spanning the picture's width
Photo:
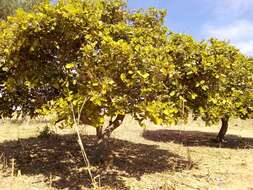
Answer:
[[0, 114], [50, 114], [69, 125], [79, 114], [99, 139], [126, 114], [141, 125], [193, 114], [221, 119], [222, 141], [230, 117], [251, 117], [253, 62], [227, 42], [169, 31], [165, 15], [121, 0], [19, 9], [0, 22]]

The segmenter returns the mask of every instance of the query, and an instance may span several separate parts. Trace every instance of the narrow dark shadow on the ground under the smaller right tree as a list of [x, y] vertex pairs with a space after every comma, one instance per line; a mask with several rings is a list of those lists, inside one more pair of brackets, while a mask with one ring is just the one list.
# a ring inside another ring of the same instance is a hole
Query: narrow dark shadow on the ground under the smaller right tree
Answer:
[[142, 134], [145, 139], [156, 142], [174, 142], [185, 146], [207, 146], [215, 148], [238, 149], [253, 148], [253, 138], [226, 135], [222, 143], [216, 142], [217, 133], [201, 131], [180, 131], [171, 129], [145, 130]]

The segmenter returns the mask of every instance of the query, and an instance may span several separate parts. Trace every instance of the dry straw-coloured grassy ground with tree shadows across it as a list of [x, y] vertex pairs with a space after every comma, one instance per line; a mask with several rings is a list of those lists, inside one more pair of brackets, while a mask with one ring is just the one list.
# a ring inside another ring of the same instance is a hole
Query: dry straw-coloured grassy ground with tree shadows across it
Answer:
[[[92, 188], [73, 129], [53, 127], [45, 135], [45, 121], [0, 122], [0, 189]], [[218, 125], [137, 125], [127, 117], [114, 132], [112, 167], [92, 166], [99, 189], [253, 189], [252, 120], [231, 120], [220, 145], [212, 141]], [[95, 131], [81, 132], [91, 158]]]

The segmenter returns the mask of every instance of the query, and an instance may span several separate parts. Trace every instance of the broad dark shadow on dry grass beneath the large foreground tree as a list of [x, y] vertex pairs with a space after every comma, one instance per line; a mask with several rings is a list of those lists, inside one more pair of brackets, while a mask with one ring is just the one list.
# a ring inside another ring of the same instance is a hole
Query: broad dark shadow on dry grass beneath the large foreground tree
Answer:
[[[95, 136], [82, 136], [88, 157], [95, 150]], [[155, 145], [135, 144], [111, 139], [114, 152], [112, 168], [103, 171], [94, 166], [94, 176], [99, 175], [101, 185], [116, 189], [128, 189], [124, 177], [140, 179], [143, 174], [188, 169], [188, 161]], [[52, 187], [57, 189], [81, 189], [90, 187], [89, 176], [75, 135], [53, 135], [48, 138], [28, 138], [0, 144], [0, 152], [7, 159], [15, 159], [16, 170], [25, 175], [42, 174], [49, 180], [55, 176]], [[92, 160], [91, 160], [92, 161]], [[48, 182], [48, 181], [47, 181]]]

